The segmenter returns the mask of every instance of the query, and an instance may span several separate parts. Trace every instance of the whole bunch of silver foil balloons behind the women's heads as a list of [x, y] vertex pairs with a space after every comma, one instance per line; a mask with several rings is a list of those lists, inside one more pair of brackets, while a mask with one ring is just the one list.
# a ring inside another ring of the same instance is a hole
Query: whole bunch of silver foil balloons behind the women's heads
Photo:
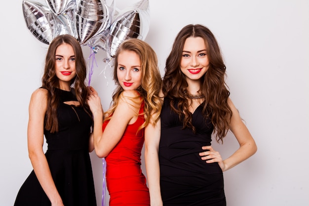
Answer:
[[88, 44], [94, 53], [107, 52], [106, 62], [112, 63], [122, 41], [145, 40], [149, 31], [149, 0], [140, 0], [115, 16], [115, 0], [45, 0], [47, 5], [23, 0], [28, 29], [41, 42], [49, 44], [58, 35], [69, 34], [80, 45]]

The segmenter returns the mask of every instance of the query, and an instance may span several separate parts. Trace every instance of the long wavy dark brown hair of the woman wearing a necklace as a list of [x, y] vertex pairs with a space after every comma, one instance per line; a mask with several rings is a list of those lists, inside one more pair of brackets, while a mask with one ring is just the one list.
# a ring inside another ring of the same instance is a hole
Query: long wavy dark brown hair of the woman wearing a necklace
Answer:
[[[230, 92], [225, 83], [226, 66], [219, 44], [207, 27], [200, 24], [191, 24], [185, 26], [178, 33], [166, 60], [162, 92], [164, 98], [170, 99], [172, 110], [184, 121], [183, 128], [188, 127], [195, 132], [192, 124], [192, 114], [189, 112], [189, 101], [182, 92], [188, 86], [188, 83], [180, 69], [184, 44], [189, 37], [201, 37], [205, 41], [209, 69], [203, 78], [201, 78], [200, 91], [205, 95], [203, 115], [204, 118], [211, 118], [216, 140], [223, 142], [223, 138], [229, 130], [232, 117], [232, 110], [228, 105]], [[175, 104], [177, 104], [177, 107], [174, 106]]]

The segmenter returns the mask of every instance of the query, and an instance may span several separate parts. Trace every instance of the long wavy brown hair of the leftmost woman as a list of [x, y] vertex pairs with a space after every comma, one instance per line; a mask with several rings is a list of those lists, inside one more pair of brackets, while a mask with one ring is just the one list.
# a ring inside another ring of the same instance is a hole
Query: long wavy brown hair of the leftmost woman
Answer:
[[[50, 44], [47, 50], [45, 58], [44, 74], [42, 77], [42, 87], [48, 90], [47, 93], [47, 111], [45, 115], [44, 128], [50, 132], [58, 132], [58, 118], [57, 118], [57, 107], [59, 106], [59, 97], [55, 88], [59, 88], [59, 79], [55, 72], [55, 55], [56, 49], [61, 44], [70, 44], [73, 47], [75, 53], [75, 67], [76, 77], [72, 79], [71, 86], [74, 85], [75, 93], [79, 105], [85, 109], [90, 115], [90, 108], [86, 102], [87, 100], [87, 87], [85, 84], [87, 69], [85, 59], [82, 54], [81, 46], [79, 42], [70, 35], [57, 36]], [[90, 115], [90, 117], [92, 117]]]

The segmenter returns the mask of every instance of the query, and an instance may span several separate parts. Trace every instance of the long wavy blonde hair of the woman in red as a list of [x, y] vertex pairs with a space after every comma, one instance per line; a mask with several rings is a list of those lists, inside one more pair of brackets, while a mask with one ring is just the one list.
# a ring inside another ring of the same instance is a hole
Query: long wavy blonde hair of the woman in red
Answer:
[[[157, 65], [157, 57], [153, 48], [145, 41], [139, 39], [128, 39], [123, 41], [119, 48], [117, 49], [115, 56], [115, 66], [114, 66], [114, 81], [117, 85], [116, 90], [113, 94], [113, 104], [112, 107], [107, 111], [108, 116], [114, 113], [120, 98], [120, 94], [123, 88], [120, 86], [117, 78], [117, 66], [118, 66], [118, 56], [122, 51], [133, 51], [135, 52], [141, 61], [141, 72], [142, 80], [141, 85], [136, 88], [140, 93], [142, 100], [145, 102], [144, 115], [145, 123], [139, 128], [145, 127], [150, 120], [155, 124], [161, 112], [161, 102], [159, 98], [159, 92], [162, 85], [162, 80]], [[140, 101], [138, 99], [137, 101]], [[107, 118], [105, 120], [108, 120]]]

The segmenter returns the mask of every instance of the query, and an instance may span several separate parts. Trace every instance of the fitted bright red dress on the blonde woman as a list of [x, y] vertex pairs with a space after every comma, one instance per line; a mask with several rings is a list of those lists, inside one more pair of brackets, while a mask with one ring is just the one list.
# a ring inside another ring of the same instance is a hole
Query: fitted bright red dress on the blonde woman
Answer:
[[[149, 189], [141, 169], [141, 151], [144, 144], [144, 101], [135, 123], [128, 124], [120, 141], [105, 158], [106, 183], [110, 206], [150, 206]], [[105, 121], [102, 129], [109, 121]]]

